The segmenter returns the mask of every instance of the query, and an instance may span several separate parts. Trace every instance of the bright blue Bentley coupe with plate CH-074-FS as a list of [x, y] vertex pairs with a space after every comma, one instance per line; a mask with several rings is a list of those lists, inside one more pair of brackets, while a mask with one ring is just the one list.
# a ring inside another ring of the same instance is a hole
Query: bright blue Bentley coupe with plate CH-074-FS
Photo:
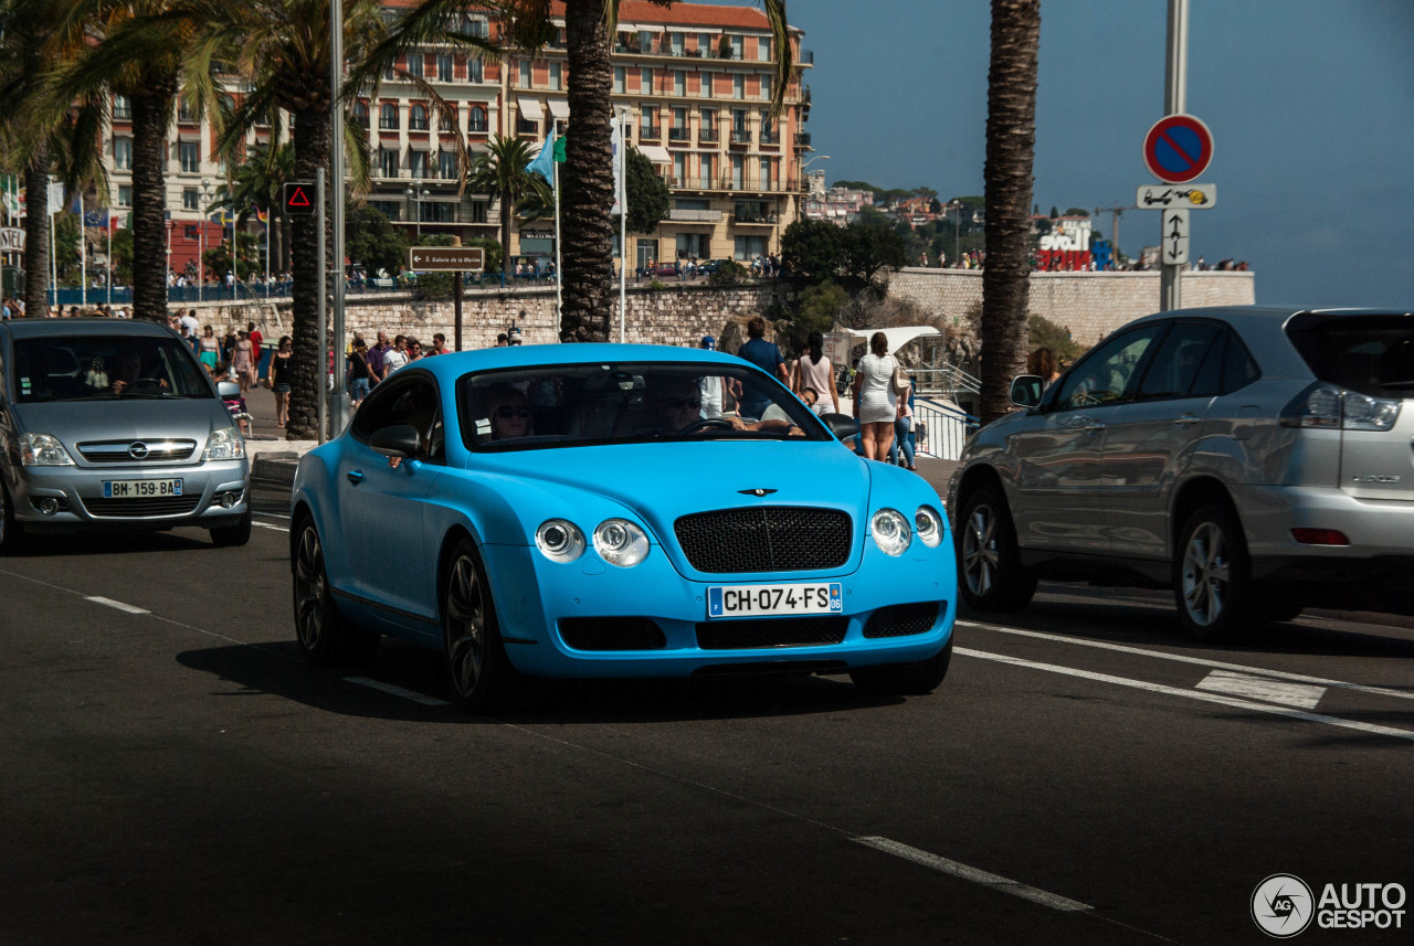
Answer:
[[952, 657], [953, 542], [925, 480], [840, 443], [855, 431], [715, 352], [423, 359], [300, 462], [300, 648], [440, 648], [474, 712], [534, 676], [848, 673], [926, 693]]

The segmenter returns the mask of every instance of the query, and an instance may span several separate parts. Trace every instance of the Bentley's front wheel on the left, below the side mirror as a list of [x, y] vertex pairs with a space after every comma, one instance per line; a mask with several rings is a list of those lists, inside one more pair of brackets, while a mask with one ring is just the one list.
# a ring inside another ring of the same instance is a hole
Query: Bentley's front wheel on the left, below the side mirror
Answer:
[[522, 679], [506, 657], [496, 607], [475, 546], [462, 539], [443, 579], [443, 642], [452, 697], [468, 713], [489, 713], [520, 695]]

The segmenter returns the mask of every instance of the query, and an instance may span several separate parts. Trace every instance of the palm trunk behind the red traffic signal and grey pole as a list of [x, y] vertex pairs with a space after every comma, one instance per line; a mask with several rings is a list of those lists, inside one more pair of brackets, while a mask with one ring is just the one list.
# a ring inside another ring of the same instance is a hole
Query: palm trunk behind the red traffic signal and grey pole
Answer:
[[[314, 181], [320, 168], [329, 164], [332, 144], [329, 113], [297, 112], [294, 116], [294, 179]], [[290, 422], [286, 438], [291, 441], [318, 439], [320, 398], [325, 394], [328, 369], [320, 364], [320, 217], [291, 219], [294, 289], [291, 321], [294, 354], [290, 390]]]

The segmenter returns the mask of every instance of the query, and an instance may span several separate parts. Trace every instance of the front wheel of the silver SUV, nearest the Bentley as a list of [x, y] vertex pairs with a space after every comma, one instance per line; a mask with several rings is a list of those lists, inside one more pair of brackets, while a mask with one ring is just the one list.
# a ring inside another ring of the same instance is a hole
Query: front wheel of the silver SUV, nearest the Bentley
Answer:
[[1021, 568], [1017, 527], [993, 487], [971, 493], [957, 522], [959, 587], [980, 611], [1019, 611], [1036, 593], [1036, 577]]

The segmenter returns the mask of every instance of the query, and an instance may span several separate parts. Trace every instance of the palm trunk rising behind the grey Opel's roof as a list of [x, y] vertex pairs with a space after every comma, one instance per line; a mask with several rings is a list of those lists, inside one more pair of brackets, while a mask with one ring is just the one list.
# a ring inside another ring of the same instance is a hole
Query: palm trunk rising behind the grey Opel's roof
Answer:
[[167, 323], [167, 119], [177, 78], [153, 82], [133, 103], [133, 318]]

